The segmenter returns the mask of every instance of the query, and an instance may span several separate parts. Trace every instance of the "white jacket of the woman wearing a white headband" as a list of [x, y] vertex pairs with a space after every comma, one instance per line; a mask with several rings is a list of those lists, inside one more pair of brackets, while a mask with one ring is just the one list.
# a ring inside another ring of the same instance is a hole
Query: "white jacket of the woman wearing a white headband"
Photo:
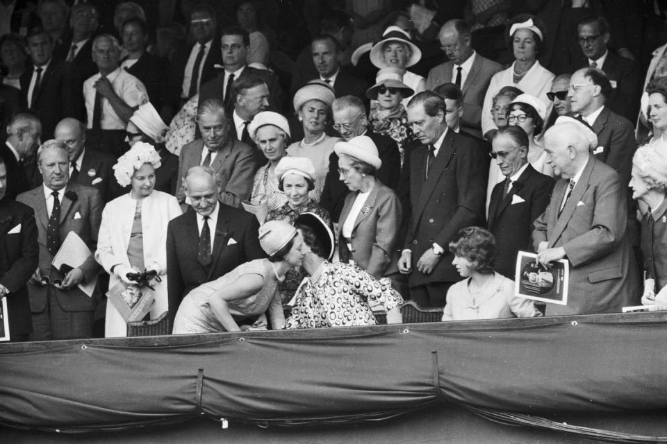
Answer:
[[[515, 62], [516, 63], [516, 62]], [[535, 62], [528, 72], [523, 76], [519, 83], [514, 83], [514, 63], [511, 67], [497, 72], [491, 78], [491, 83], [486, 89], [484, 96], [484, 105], [481, 108], [481, 133], [484, 135], [489, 130], [497, 129], [491, 117], [491, 108], [493, 106], [493, 97], [498, 94], [500, 89], [505, 86], [516, 86], [522, 92], [536, 96], [544, 103], [545, 119], [551, 114], [553, 103], [547, 97], [547, 92], [551, 90], [551, 84], [554, 81], [554, 74], [545, 69], [540, 62]]]

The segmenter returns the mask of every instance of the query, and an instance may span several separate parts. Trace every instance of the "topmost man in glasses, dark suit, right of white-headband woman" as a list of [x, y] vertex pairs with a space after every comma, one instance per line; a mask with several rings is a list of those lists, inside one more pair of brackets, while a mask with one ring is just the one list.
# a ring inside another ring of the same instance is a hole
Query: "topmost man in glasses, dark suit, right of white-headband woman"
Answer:
[[609, 25], [603, 17], [588, 15], [577, 25], [577, 41], [582, 49], [582, 58], [576, 60], [573, 69], [598, 68], [607, 74], [613, 91], [607, 98], [607, 107], [635, 121], [639, 113], [639, 67], [625, 57], [609, 51], [611, 39]]

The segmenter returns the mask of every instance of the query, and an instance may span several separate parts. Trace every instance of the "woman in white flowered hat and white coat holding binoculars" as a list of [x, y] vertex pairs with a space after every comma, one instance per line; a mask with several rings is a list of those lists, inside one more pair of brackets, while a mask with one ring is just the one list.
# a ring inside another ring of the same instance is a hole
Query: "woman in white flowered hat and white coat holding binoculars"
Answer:
[[[160, 156], [153, 146], [138, 142], [122, 155], [113, 167], [122, 187], [131, 191], [104, 207], [99, 228], [95, 259], [110, 275], [109, 288], [129, 285], [127, 273], [154, 270], [161, 282], [154, 280], [155, 304], [151, 319], [167, 311], [167, 223], [181, 215], [176, 198], [155, 191], [155, 170]], [[110, 301], [106, 305], [104, 336], [126, 336], [126, 323]]]

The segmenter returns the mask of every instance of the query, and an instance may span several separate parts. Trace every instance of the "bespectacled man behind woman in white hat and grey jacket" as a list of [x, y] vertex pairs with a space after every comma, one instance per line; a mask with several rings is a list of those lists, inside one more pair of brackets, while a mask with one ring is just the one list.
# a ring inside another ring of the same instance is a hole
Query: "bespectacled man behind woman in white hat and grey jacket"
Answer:
[[[342, 96], [331, 105], [334, 114], [334, 128], [347, 142], [356, 136], [367, 135], [377, 147], [382, 166], [375, 172], [375, 177], [387, 187], [396, 189], [401, 175], [401, 153], [394, 139], [368, 130], [368, 118], [363, 102], [359, 97]], [[340, 181], [338, 173], [338, 155], [329, 155], [329, 171], [324, 179], [324, 189], [320, 205], [329, 212], [331, 221], [338, 222], [340, 212], [345, 205], [345, 196], [349, 194], [347, 186]]]

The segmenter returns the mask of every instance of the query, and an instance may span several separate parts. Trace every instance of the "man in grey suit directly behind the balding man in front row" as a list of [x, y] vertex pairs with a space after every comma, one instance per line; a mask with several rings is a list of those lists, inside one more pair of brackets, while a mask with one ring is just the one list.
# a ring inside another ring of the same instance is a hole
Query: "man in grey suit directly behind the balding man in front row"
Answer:
[[197, 125], [201, 139], [183, 146], [179, 157], [179, 179], [176, 198], [183, 211], [187, 210], [183, 177], [197, 165], [211, 167], [221, 187], [220, 202], [240, 207], [252, 191], [255, 162], [254, 150], [236, 137], [230, 137], [230, 121], [224, 112], [224, 103], [208, 99], [197, 108]]

